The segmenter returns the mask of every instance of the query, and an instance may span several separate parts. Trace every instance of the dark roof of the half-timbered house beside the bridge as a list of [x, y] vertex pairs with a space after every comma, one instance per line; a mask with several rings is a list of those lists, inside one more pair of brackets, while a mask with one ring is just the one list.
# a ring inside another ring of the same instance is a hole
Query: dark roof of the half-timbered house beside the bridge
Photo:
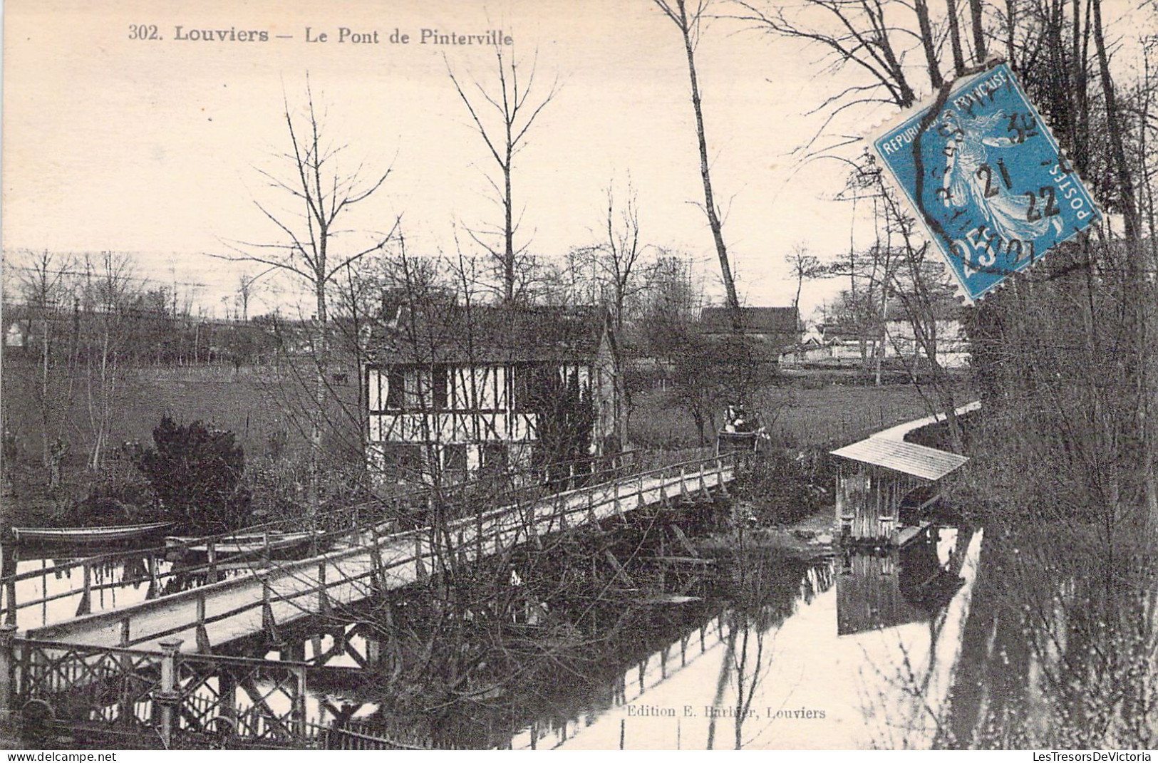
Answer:
[[580, 361], [594, 357], [607, 313], [594, 307], [427, 302], [400, 308], [371, 332], [372, 362]]

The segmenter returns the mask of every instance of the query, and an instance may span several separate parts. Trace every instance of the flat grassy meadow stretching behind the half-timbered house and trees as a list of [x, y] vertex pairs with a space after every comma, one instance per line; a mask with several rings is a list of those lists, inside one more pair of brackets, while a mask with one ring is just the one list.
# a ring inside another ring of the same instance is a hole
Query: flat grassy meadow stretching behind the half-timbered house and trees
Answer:
[[[292, 373], [280, 377], [252, 369], [232, 368], [141, 368], [127, 371], [115, 397], [115, 419], [109, 436], [108, 474], [94, 477], [85, 470], [93, 433], [89, 421], [86, 384], [75, 377], [58, 386], [52, 406], [50, 436], [60, 436], [66, 445], [61, 464], [64, 490], [49, 499], [44, 492], [46, 475], [41, 464], [43, 428], [36, 396], [36, 368], [29, 359], [5, 358], [3, 364], [5, 426], [17, 443], [14, 474], [17, 501], [23, 506], [47, 506], [67, 511], [69, 500], [82, 498], [94, 484], [139, 479], [126, 460], [117, 460], [119, 446], [126, 441], [149, 443], [153, 427], [162, 416], [177, 423], [201, 420], [233, 432], [244, 448], [247, 461], [274, 453], [293, 455], [306, 449], [308, 424], [303, 396], [308, 395], [301, 379]], [[352, 376], [352, 375], [351, 375]], [[809, 377], [808, 388], [799, 382], [771, 388], [754, 406], [777, 442], [790, 447], [838, 446], [873, 431], [899, 424], [929, 411], [917, 389], [910, 384], [881, 388], [823, 383], [830, 380]], [[357, 410], [357, 382], [335, 388], [350, 411]], [[966, 399], [962, 396], [962, 402]], [[714, 443], [714, 427], [723, 424], [721, 411], [705, 427], [706, 445]], [[340, 453], [343, 440], [357, 440], [358, 423], [346, 417], [336, 403], [328, 418], [339, 425], [343, 434], [327, 443], [331, 453]], [[639, 448], [688, 448], [699, 445], [691, 416], [680, 408], [670, 392], [647, 391], [635, 397], [631, 417], [631, 441]], [[96, 485], [100, 486], [100, 485]], [[41, 509], [37, 509], [41, 511]], [[45, 509], [46, 511], [46, 509]]]

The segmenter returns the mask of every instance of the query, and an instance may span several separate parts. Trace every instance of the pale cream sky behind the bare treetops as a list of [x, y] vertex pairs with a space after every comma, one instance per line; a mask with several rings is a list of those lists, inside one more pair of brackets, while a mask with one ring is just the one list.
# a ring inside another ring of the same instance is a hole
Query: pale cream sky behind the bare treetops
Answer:
[[[261, 269], [210, 255], [279, 240], [255, 201], [286, 208], [262, 171], [285, 167], [284, 103], [302, 107], [308, 75], [347, 171], [390, 168], [349, 227], [388, 229], [401, 215], [411, 254], [471, 254], [464, 230], [493, 227], [499, 212], [484, 175], [492, 160], [448, 68], [493, 86], [494, 51], [420, 36], [501, 30], [513, 41], [507, 54], [525, 71], [535, 66], [532, 98], [557, 88], [515, 160], [516, 243], [559, 257], [598, 241], [608, 186], [622, 198], [630, 182], [642, 240], [702, 263], [710, 295], [721, 294], [696, 206], [703, 188], [682, 39], [652, 2], [8, 0], [3, 10], [6, 251], [133, 252], [142, 278], [177, 281], [210, 307], [232, 296], [240, 273]], [[134, 25], [145, 37], [155, 25], [160, 39], [132, 38]], [[327, 41], [307, 42], [307, 28]], [[379, 42], [338, 42], [342, 28], [376, 31]], [[177, 39], [190, 30], [269, 39]], [[393, 32], [410, 43], [390, 43]], [[853, 232], [848, 203], [831, 200], [844, 166], [802, 164], [796, 153], [821, 126], [808, 112], [846, 83], [819, 75], [819, 56], [726, 19], [708, 25], [697, 49], [712, 179], [749, 305], [791, 303], [784, 256], [794, 244], [835, 256], [850, 235], [867, 235], [863, 221]], [[867, 134], [889, 116], [862, 111], [850, 129]], [[804, 313], [833, 288], [806, 287]]]

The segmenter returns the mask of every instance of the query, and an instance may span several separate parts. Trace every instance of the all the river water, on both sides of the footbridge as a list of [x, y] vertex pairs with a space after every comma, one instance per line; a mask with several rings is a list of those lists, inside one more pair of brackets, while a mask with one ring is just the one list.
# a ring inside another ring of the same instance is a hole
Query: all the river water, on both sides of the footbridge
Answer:
[[[819, 563], [775, 552], [733, 559], [723, 565], [726, 579], [716, 581], [726, 592], [719, 599], [653, 608], [651, 618], [667, 628], [650, 629], [644, 617], [638, 648], [606, 655], [611, 669], [602, 677], [564, 691], [549, 710], [526, 713], [521, 726], [492, 727], [464, 746], [929, 747], [960, 653], [980, 546], [981, 533], [933, 528], [902, 551]], [[50, 568], [16, 585], [17, 602], [67, 594], [19, 609], [22, 630], [75, 614], [82, 568], [51, 572], [72, 557], [67, 551], [8, 557], [9, 573], [13, 566], [19, 573]], [[94, 588], [109, 586], [93, 592], [91, 611], [199, 582], [175, 571], [173, 562], [148, 553], [91, 565]], [[152, 593], [151, 577], [161, 581]], [[675, 630], [673, 619], [681, 623]], [[318, 647], [329, 651], [331, 643], [329, 636], [307, 643], [303, 656]], [[359, 637], [353, 644], [364, 650]], [[329, 665], [354, 666], [345, 655]], [[340, 694], [310, 697], [315, 722], [325, 720], [323, 699], [335, 706], [346, 700]], [[373, 719], [379, 711], [365, 689], [356, 704], [354, 719]]]

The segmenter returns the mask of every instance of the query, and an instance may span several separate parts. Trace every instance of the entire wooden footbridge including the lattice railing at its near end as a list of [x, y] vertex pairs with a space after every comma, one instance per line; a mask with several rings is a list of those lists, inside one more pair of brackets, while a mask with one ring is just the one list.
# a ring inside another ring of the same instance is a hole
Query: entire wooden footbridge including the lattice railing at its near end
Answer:
[[[64, 570], [47, 567], [43, 580], [65, 573], [72, 579], [72, 572], [81, 570], [83, 585], [53, 594], [44, 588], [42, 596], [22, 602], [15, 599], [16, 585], [27, 582], [30, 573], [6, 575], [0, 721], [31, 712], [58, 726], [67, 719], [74, 731], [135, 735], [124, 747], [140, 744], [142, 732], [163, 747], [213, 734], [234, 744], [342, 747], [350, 740], [335, 721], [349, 719], [307, 690], [312, 680], [332, 682], [332, 673], [320, 670], [335, 668], [300, 661], [301, 655], [286, 660], [286, 653], [283, 661], [267, 661], [213, 652], [257, 634], [276, 641], [278, 631], [294, 622], [423, 580], [448, 553], [469, 563], [547, 535], [625, 519], [643, 507], [670, 505], [680, 497], [726, 493], [735, 458], [730, 454], [631, 474], [588, 474], [579, 480], [587, 484], [570, 486], [572, 479], [565, 483], [567, 490], [538, 491], [529, 500], [460, 514], [437, 529], [398, 531], [396, 521], [372, 518], [327, 535], [324, 552], [292, 562], [263, 559], [232, 570], [225, 579], [213, 558], [215, 538], [199, 538], [196, 543], [210, 549], [210, 560], [195, 585], [164, 594], [163, 575], [149, 563], [138, 580], [148, 582], [144, 599], [103, 611], [91, 611], [102, 585], [108, 585], [93, 582], [100, 558], [68, 563]], [[50, 622], [49, 602], [65, 600], [65, 616]], [[20, 632], [22, 609], [38, 611], [42, 623]], [[307, 707], [309, 703], [316, 706]], [[354, 741], [374, 747], [365, 735]], [[382, 741], [379, 747], [397, 746]]]

